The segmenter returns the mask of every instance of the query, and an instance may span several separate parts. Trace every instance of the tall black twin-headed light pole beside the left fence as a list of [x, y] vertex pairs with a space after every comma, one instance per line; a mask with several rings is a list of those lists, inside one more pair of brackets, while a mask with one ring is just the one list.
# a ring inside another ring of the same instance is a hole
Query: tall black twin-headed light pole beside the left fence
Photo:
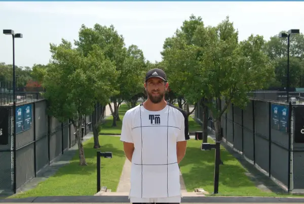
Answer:
[[5, 35], [12, 35], [13, 37], [13, 114], [14, 114], [14, 125], [13, 125], [13, 145], [14, 145], [14, 150], [13, 150], [13, 165], [14, 165], [14, 193], [16, 193], [16, 76], [15, 76], [15, 38], [22, 38], [23, 35], [21, 33], [16, 33], [14, 30], [3, 30], [3, 34]]

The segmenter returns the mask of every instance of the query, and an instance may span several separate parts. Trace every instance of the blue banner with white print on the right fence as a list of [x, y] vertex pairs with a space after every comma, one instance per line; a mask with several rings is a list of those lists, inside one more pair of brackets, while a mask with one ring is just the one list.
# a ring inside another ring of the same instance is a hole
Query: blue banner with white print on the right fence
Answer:
[[288, 132], [289, 110], [282, 105], [271, 105], [271, 127], [281, 132]]

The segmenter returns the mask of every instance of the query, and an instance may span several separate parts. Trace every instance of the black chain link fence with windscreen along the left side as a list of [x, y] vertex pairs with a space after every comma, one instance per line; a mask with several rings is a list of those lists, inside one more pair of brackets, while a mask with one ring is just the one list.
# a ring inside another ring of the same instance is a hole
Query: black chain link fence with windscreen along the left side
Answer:
[[[47, 115], [46, 100], [37, 100], [27, 103], [26, 106], [30, 106], [32, 110], [31, 120], [23, 122], [21, 126], [24, 130], [22, 131], [19, 131], [16, 125], [16, 148], [13, 145], [12, 134], [13, 107], [0, 106], [0, 110], [9, 110], [9, 117], [6, 119], [9, 120], [7, 135], [9, 142], [7, 145], [0, 144], [0, 193], [16, 192], [19, 187], [36, 177], [39, 171], [50, 165], [54, 159], [64, 154], [64, 151], [77, 142], [74, 127], [69, 121], [60, 123], [56, 118]], [[20, 107], [20, 104], [17, 104], [16, 110]], [[83, 117], [82, 136], [92, 131], [93, 115], [98, 119], [101, 116], [101, 110], [102, 107], [98, 104], [94, 114]], [[18, 122], [18, 116], [16, 118]], [[29, 125], [25, 129], [26, 122]], [[16, 158], [14, 158], [14, 151]]]

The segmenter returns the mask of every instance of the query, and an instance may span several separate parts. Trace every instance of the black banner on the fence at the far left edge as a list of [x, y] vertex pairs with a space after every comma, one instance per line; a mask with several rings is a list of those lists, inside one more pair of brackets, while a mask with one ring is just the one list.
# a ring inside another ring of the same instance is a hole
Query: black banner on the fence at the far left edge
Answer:
[[0, 144], [9, 144], [9, 109], [0, 108]]

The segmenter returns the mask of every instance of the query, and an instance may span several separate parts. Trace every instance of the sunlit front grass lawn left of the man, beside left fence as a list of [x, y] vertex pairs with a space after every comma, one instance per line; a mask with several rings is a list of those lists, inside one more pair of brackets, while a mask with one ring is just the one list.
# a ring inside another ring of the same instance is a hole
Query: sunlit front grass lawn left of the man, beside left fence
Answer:
[[[120, 137], [99, 136], [102, 151], [111, 151], [112, 159], [101, 159], [101, 186], [116, 191], [126, 160]], [[94, 195], [96, 193], [96, 151], [93, 138], [85, 142], [85, 157], [88, 166], [79, 166], [78, 150], [71, 163], [41, 182], [37, 187], [11, 197]], [[10, 197], [10, 198], [11, 198]]]

